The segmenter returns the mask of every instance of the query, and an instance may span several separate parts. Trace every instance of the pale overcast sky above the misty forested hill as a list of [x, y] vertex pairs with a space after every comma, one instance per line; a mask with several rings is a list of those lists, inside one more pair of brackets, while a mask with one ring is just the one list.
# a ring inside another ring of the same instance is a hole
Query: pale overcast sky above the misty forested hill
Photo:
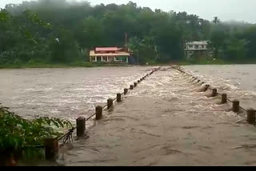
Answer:
[[[24, 0], [0, 0], [0, 8], [7, 3], [21, 3]], [[30, 1], [30, 0], [28, 0]], [[127, 3], [130, 0], [89, 0], [92, 5], [104, 3]], [[256, 0], [133, 0], [138, 6], [165, 11], [186, 11], [201, 18], [212, 20], [218, 16], [222, 21], [237, 20], [256, 23]]]

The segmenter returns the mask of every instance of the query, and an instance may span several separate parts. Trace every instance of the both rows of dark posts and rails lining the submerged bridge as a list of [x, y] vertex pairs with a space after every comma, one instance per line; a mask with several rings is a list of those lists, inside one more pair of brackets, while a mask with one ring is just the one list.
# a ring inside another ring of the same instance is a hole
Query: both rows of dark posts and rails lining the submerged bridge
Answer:
[[[234, 100], [231, 101], [226, 93], [218, 93], [218, 89], [215, 89], [214, 87], [206, 84], [205, 82], [202, 82], [199, 78], [194, 77], [192, 74], [186, 73], [186, 71], [182, 70], [180, 66], [170, 66], [174, 70], [178, 70], [178, 72], [185, 74], [192, 78], [190, 82], [195, 82], [192, 85], [199, 84], [203, 85], [202, 89], [200, 89], [200, 92], [206, 92], [208, 89], [211, 90], [210, 95], [208, 97], [221, 97], [221, 101], [218, 103], [219, 105], [226, 104], [227, 102], [231, 102], [232, 109], [230, 111], [233, 111], [234, 113], [239, 113], [241, 110], [247, 113], [247, 119], [246, 121], [249, 124], [255, 125], [255, 109], [244, 109], [242, 106], [240, 106], [240, 101]], [[146, 78], [148, 78], [151, 74], [154, 74], [154, 72], [160, 70], [161, 67], [158, 69], [150, 71], [149, 74], [146, 74], [144, 77], [140, 78], [137, 82], [134, 82], [133, 85], [130, 85], [130, 88], [124, 89], [123, 93], [117, 93], [117, 96], [115, 98], [109, 98], [106, 101], [106, 105], [98, 105], [95, 108], [95, 113], [90, 115], [90, 117], [78, 117], [76, 120], [76, 126], [70, 129], [67, 133], [63, 134], [61, 137], [55, 137], [55, 138], [47, 138], [45, 141], [45, 145], [39, 145], [37, 148], [45, 148], [45, 157], [46, 160], [53, 159], [56, 154], [58, 154], [58, 149], [62, 148], [66, 143], [70, 141], [74, 141], [73, 134], [76, 131], [77, 138], [84, 138], [86, 137], [86, 121], [91, 120], [93, 117], [95, 121], [98, 121], [102, 118], [103, 111], [109, 111], [114, 106], [114, 101], [117, 101], [118, 103], [122, 101], [122, 97], [125, 96], [127, 93], [129, 93], [130, 90], [135, 89], [139, 83], [143, 82]], [[59, 145], [59, 141], [62, 141], [62, 144]]]

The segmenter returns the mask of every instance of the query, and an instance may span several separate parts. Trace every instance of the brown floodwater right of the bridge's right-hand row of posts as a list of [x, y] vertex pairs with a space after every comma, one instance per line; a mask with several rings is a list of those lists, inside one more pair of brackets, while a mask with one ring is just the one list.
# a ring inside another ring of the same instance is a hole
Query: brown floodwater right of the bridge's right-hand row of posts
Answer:
[[187, 72], [237, 99], [242, 107], [256, 109], [256, 65], [183, 66]]

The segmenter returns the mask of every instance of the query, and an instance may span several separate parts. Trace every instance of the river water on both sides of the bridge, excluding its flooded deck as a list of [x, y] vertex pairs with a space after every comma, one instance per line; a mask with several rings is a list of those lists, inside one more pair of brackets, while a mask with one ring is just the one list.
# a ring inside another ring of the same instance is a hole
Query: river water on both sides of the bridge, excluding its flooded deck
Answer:
[[[256, 108], [256, 66], [184, 66], [203, 82]], [[74, 121], [122, 93], [152, 67], [0, 70], [0, 103], [23, 117]], [[161, 77], [159, 79], [162, 79]], [[157, 87], [155, 87], [157, 90]]]

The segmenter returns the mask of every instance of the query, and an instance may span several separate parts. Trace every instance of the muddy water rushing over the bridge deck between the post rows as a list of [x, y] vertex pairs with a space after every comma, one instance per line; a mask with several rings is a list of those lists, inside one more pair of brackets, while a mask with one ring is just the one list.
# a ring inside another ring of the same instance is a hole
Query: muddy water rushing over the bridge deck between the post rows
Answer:
[[154, 73], [95, 121], [89, 139], [66, 145], [58, 165], [255, 165], [255, 128], [246, 113], [198, 89], [176, 70]]

